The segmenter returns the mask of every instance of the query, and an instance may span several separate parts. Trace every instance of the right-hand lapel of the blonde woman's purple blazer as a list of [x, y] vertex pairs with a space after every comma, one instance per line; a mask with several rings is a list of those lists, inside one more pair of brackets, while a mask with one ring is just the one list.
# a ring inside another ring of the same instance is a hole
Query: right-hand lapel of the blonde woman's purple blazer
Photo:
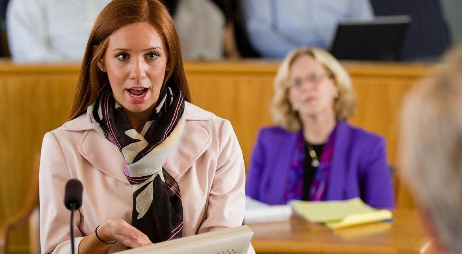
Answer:
[[326, 200], [342, 200], [345, 189], [346, 153], [351, 143], [351, 133], [345, 121], [339, 121], [335, 133], [332, 167], [328, 182]]

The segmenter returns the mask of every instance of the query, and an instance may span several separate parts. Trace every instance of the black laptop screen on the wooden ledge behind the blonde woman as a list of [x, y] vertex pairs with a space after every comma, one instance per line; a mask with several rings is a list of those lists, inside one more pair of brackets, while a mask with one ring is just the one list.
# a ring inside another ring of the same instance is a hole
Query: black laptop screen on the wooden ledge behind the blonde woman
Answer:
[[409, 16], [403, 15], [340, 22], [331, 53], [345, 60], [400, 60], [410, 21]]

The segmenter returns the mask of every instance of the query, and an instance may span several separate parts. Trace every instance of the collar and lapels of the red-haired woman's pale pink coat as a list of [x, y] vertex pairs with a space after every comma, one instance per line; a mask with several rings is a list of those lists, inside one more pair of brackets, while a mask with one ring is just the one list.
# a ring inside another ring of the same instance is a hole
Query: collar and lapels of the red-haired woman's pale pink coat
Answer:
[[[187, 121], [183, 133], [164, 164], [164, 169], [176, 181], [207, 150], [212, 142], [212, 132], [202, 121], [212, 120], [215, 115], [188, 102], [185, 104], [185, 113]], [[84, 131], [79, 142], [80, 154], [104, 174], [129, 184], [124, 175], [125, 160], [121, 152], [116, 145], [100, 136], [90, 127], [85, 114], [66, 122], [63, 129]]]

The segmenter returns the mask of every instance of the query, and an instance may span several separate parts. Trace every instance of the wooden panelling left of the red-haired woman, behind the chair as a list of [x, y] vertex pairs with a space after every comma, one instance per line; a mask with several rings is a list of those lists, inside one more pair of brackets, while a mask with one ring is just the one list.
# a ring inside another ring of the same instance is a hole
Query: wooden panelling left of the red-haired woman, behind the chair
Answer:
[[[0, 221], [18, 212], [23, 204], [33, 154], [40, 150], [44, 133], [62, 124], [76, 78], [75, 71], [11, 75], [0, 71]], [[27, 235], [26, 227], [12, 234], [12, 251], [27, 249]]]

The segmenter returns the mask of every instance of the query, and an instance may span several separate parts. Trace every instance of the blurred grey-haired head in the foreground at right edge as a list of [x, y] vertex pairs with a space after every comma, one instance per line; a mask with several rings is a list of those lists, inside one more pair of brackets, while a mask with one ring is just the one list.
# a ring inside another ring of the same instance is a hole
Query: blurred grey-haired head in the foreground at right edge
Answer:
[[401, 168], [439, 253], [462, 253], [462, 45], [416, 86], [401, 115]]

